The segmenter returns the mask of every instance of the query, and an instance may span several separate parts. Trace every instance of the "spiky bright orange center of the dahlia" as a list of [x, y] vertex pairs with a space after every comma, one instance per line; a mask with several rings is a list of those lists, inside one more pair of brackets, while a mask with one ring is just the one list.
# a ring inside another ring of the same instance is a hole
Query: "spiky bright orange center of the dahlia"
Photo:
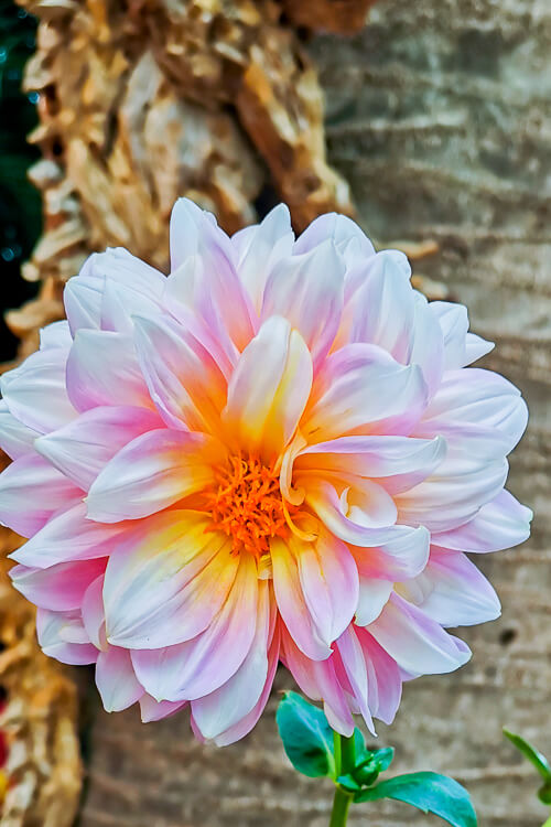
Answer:
[[269, 552], [270, 537], [289, 533], [288, 515], [295, 511], [283, 503], [279, 472], [258, 457], [233, 457], [216, 479], [217, 490], [206, 492], [209, 529], [231, 537], [234, 554], [246, 549], [259, 559]]

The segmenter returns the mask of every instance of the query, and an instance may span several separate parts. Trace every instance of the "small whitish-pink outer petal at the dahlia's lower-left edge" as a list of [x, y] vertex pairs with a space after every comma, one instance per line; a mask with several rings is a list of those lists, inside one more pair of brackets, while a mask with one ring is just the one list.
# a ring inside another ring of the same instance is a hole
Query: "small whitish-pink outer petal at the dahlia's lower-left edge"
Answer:
[[98, 651], [91, 643], [74, 642], [85, 640], [83, 622], [77, 612], [52, 612], [50, 609], [36, 611], [36, 634], [39, 644], [48, 657], [71, 666], [95, 664]]

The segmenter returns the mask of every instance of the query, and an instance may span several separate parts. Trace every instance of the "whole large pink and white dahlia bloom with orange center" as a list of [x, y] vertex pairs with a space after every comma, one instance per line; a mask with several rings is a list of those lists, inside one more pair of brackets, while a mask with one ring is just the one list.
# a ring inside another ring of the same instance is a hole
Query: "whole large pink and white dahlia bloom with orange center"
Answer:
[[245, 735], [281, 660], [343, 734], [469, 657], [499, 601], [465, 552], [521, 543], [504, 491], [527, 408], [466, 367], [460, 304], [348, 218], [281, 205], [229, 238], [179, 201], [165, 277], [123, 249], [1, 380], [0, 518], [44, 652], [96, 664], [107, 710], [191, 707]]

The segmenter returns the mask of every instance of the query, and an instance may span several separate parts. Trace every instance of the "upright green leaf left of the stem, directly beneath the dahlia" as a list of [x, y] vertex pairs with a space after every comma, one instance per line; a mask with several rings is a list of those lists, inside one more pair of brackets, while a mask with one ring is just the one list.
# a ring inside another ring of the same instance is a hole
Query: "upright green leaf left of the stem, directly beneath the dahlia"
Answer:
[[295, 770], [310, 778], [335, 775], [333, 730], [321, 709], [296, 692], [285, 692], [276, 720]]

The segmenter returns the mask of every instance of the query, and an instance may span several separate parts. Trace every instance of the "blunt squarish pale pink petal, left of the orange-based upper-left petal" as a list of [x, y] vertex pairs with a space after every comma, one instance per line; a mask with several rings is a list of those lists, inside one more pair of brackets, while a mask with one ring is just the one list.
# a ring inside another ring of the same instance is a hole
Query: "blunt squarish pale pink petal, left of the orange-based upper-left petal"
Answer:
[[129, 335], [79, 330], [67, 358], [67, 393], [77, 410], [99, 405], [152, 408]]

